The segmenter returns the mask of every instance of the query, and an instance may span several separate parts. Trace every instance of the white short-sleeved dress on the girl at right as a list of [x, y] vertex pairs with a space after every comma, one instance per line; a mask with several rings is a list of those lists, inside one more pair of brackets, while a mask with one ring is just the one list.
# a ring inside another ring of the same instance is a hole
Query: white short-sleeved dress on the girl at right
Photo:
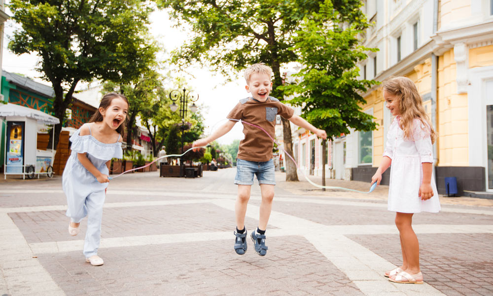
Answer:
[[424, 126], [419, 119], [414, 119], [413, 140], [406, 140], [403, 138], [399, 121], [399, 116], [392, 121], [384, 150], [384, 156], [392, 159], [388, 188], [388, 210], [400, 213], [438, 213], [440, 200], [433, 174], [431, 176], [433, 197], [423, 201], [419, 196], [420, 186], [423, 182], [422, 163], [433, 163], [433, 146], [429, 126]]

